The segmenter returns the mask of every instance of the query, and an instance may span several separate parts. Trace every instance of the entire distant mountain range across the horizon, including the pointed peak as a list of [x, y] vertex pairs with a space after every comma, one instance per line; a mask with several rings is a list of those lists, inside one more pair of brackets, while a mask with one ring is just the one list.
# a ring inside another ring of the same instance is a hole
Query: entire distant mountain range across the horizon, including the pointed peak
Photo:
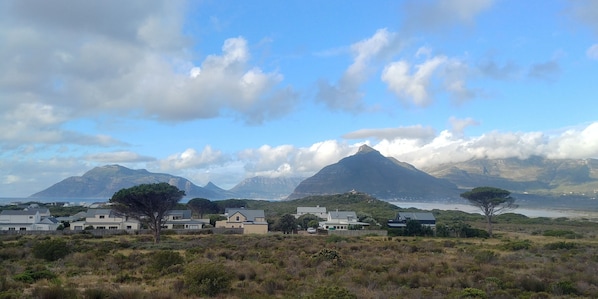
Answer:
[[364, 145], [356, 154], [322, 168], [307, 179], [252, 177], [225, 190], [211, 182], [200, 187], [182, 177], [106, 165], [67, 178], [31, 197], [110, 198], [122, 188], [158, 182], [177, 186], [189, 198], [211, 200], [283, 200], [354, 190], [382, 200], [438, 201], [459, 199], [461, 192], [478, 186], [503, 188], [522, 197], [567, 195], [595, 199], [598, 160], [477, 159], [418, 170]]

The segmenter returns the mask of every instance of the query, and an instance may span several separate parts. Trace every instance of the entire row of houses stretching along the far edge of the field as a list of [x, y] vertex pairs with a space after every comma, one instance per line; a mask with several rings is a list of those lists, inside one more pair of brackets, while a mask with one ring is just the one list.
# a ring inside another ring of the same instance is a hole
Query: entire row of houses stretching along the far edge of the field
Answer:
[[[326, 211], [325, 207], [297, 207], [294, 215], [315, 215], [319, 221], [320, 230], [349, 230], [369, 226], [367, 222], [360, 222], [354, 211]], [[266, 234], [268, 223], [264, 210], [250, 210], [244, 208], [226, 209], [223, 215], [226, 219], [217, 221], [216, 228], [243, 229], [244, 234]], [[406, 227], [410, 220], [418, 221], [424, 226], [434, 227], [436, 219], [432, 213], [398, 213], [395, 219], [388, 221], [390, 228]], [[47, 208], [31, 205], [22, 210], [3, 210], [0, 212], [0, 230], [3, 231], [51, 231], [57, 230], [63, 222], [70, 225], [66, 229], [107, 229], [107, 230], [138, 230], [141, 224], [138, 220], [118, 214], [106, 208], [88, 209], [69, 217], [52, 217]], [[192, 217], [191, 210], [171, 210], [166, 214], [163, 222], [164, 229], [201, 229], [209, 224], [209, 219]]]

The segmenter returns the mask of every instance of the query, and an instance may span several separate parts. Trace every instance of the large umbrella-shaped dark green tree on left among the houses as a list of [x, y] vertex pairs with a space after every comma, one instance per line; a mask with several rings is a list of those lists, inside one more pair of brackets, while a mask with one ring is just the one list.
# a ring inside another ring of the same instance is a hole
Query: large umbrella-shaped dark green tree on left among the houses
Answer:
[[114, 193], [110, 203], [116, 212], [146, 224], [154, 233], [154, 243], [160, 243], [160, 231], [166, 213], [183, 196], [185, 191], [168, 183], [141, 184]]

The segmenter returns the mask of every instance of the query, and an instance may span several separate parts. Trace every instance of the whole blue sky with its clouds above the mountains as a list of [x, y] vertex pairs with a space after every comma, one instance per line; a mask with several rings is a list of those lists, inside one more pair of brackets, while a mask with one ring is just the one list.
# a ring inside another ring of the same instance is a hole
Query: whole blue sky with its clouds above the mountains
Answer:
[[120, 164], [231, 188], [368, 144], [598, 158], [597, 1], [2, 1], [0, 197]]

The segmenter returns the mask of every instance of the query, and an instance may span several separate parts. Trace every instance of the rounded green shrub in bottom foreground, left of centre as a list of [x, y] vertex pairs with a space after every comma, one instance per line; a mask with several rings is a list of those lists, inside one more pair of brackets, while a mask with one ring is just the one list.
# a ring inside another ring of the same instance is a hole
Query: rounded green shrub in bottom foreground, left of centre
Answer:
[[218, 263], [193, 265], [185, 271], [185, 285], [191, 294], [214, 296], [230, 288], [232, 273]]

